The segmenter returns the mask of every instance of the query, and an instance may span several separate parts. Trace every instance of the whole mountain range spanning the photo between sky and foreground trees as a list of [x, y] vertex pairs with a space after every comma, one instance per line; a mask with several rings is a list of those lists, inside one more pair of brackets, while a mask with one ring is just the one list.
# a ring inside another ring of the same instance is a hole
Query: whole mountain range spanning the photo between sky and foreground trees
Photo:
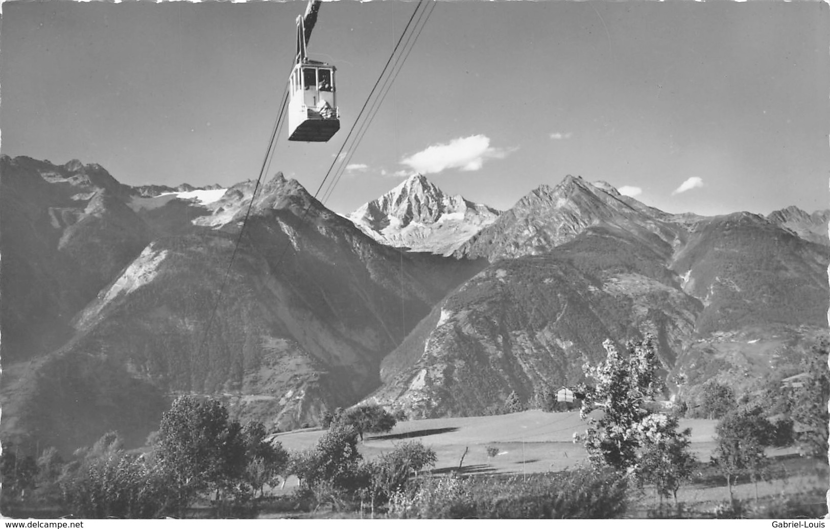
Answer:
[[359, 401], [476, 415], [647, 332], [685, 396], [826, 328], [830, 211], [673, 215], [570, 176], [503, 212], [422, 175], [346, 216], [254, 189], [0, 157], [3, 439], [139, 446], [183, 393], [283, 430]]

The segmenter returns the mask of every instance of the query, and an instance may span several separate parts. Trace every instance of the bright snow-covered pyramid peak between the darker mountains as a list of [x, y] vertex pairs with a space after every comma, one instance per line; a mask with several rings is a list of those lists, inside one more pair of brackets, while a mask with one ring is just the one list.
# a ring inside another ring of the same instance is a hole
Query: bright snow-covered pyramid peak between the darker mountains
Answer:
[[496, 221], [499, 213], [461, 195], [450, 197], [427, 177], [414, 174], [346, 217], [385, 245], [448, 255]]

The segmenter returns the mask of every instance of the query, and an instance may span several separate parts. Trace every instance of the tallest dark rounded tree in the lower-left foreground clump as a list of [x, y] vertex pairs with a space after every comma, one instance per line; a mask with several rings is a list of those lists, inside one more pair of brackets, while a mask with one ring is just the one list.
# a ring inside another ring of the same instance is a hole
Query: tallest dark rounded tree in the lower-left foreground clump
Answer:
[[180, 396], [162, 415], [155, 447], [159, 463], [173, 480], [178, 504], [187, 507], [198, 493], [234, 488], [245, 469], [242, 427], [227, 419], [217, 400]]

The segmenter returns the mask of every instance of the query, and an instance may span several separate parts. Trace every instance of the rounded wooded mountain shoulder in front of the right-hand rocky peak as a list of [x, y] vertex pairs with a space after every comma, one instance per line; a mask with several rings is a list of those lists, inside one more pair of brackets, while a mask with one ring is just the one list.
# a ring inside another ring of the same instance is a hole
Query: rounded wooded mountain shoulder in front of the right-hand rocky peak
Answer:
[[602, 342], [652, 332], [666, 371], [689, 342], [700, 301], [659, 255], [624, 231], [588, 228], [545, 255], [500, 260], [438, 304], [384, 361], [372, 397], [415, 416], [480, 415], [511, 391], [583, 380]]

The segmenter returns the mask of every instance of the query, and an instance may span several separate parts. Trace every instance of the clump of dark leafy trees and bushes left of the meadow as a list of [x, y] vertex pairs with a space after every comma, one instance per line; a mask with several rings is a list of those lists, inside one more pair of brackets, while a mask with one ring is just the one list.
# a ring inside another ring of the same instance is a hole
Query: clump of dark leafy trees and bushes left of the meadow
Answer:
[[217, 400], [192, 396], [173, 402], [149, 440], [144, 454], [126, 451], [115, 432], [77, 450], [57, 479], [66, 507], [91, 518], [183, 517], [212, 496], [217, 515], [227, 515], [279, 483], [289, 462], [260, 422], [242, 426]]

